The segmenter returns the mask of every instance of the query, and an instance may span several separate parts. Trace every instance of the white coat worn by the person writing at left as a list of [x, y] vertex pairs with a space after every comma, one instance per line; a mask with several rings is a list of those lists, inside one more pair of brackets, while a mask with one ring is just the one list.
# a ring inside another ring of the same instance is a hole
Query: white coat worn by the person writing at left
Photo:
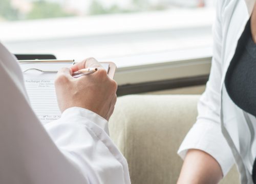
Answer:
[[96, 113], [72, 107], [42, 126], [16, 58], [1, 43], [0, 87], [0, 183], [130, 183], [108, 122]]

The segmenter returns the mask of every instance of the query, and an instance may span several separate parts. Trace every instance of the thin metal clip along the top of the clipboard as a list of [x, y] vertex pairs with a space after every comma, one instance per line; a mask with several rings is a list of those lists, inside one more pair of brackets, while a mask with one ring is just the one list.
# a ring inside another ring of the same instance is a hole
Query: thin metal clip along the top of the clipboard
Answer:
[[[70, 63], [73, 65], [75, 63], [75, 61], [74, 61], [74, 59], [71, 59], [71, 60], [59, 60], [59, 59], [39, 60], [39, 59], [35, 59], [35, 60], [18, 60], [18, 63], [20, 63], [20, 64], [39, 64], [39, 63], [69, 64]], [[26, 73], [28, 71], [38, 71], [41, 73], [57, 73], [58, 72], [56, 70], [50, 71], [50, 70], [41, 70], [36, 67], [29, 67], [29, 68], [26, 68], [25, 70], [23, 70], [23, 73]]]

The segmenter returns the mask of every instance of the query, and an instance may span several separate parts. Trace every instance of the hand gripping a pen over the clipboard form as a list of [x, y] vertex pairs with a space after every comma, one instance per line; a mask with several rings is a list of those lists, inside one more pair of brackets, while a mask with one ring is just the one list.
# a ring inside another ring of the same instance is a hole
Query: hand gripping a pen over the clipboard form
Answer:
[[[98, 71], [87, 76], [72, 77], [73, 72], [85, 67], [97, 67]], [[55, 79], [55, 88], [61, 112], [70, 107], [82, 107], [109, 120], [114, 111], [117, 84], [94, 58], [83, 60], [71, 68], [61, 68]]]

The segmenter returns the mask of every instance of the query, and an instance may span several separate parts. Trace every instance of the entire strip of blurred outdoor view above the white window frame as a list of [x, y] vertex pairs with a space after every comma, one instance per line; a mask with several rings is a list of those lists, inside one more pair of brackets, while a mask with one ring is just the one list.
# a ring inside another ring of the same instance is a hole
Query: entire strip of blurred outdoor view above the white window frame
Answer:
[[161, 11], [212, 6], [204, 0], [2, 0], [2, 21]]

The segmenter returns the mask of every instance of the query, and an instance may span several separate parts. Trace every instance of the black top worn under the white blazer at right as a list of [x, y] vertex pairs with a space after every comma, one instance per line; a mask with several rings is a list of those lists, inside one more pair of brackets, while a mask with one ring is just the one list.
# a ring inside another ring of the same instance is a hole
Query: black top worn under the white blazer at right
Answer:
[[[252, 40], [250, 20], [241, 35], [228, 67], [225, 86], [230, 99], [244, 111], [256, 116], [256, 44]], [[256, 159], [252, 170], [256, 183]]]

